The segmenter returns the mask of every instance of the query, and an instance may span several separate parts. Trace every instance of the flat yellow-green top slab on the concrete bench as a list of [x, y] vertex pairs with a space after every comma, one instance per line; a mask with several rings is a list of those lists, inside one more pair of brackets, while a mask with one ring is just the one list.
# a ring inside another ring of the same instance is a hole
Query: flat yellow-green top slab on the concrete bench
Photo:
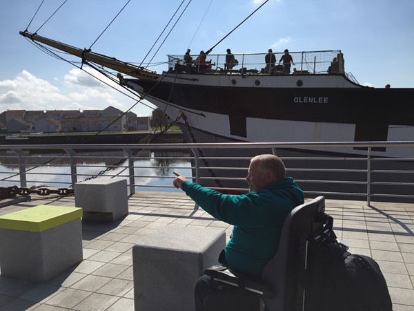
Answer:
[[38, 205], [0, 216], [0, 228], [43, 232], [81, 217], [80, 207]]

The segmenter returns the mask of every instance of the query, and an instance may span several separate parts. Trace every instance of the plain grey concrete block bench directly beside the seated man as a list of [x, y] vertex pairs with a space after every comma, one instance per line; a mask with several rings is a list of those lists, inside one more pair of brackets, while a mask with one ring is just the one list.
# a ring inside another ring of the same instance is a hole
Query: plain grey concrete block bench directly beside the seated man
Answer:
[[194, 311], [194, 287], [218, 264], [226, 233], [168, 225], [132, 247], [135, 310]]

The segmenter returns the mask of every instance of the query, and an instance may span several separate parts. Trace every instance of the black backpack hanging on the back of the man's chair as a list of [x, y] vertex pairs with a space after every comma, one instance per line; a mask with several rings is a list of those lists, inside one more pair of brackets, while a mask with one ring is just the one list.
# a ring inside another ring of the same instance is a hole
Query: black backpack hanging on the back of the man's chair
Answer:
[[308, 245], [304, 310], [392, 311], [378, 264], [373, 258], [348, 252], [333, 232], [333, 218], [325, 216], [324, 234]]

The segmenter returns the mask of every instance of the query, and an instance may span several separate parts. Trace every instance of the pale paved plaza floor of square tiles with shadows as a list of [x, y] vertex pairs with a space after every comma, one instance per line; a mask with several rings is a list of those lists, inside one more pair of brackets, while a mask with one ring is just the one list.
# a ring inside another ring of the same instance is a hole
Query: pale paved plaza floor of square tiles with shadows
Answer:
[[[37, 205], [75, 206], [75, 197], [34, 197], [0, 215]], [[113, 223], [83, 222], [83, 261], [44, 283], [0, 276], [0, 311], [134, 310], [132, 246], [168, 225], [231, 226], [197, 208], [181, 192], [137, 192], [129, 214]], [[388, 283], [394, 311], [414, 311], [414, 204], [326, 200], [338, 238], [350, 252], [371, 256]], [[150, 310], [148, 310], [150, 311]]]

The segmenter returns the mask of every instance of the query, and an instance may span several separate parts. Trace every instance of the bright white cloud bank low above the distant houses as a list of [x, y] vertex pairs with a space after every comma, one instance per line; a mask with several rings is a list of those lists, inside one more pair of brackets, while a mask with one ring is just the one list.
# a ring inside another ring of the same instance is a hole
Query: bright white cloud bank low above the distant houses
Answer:
[[[106, 79], [95, 71], [94, 75]], [[116, 82], [106, 80], [113, 86], [117, 85]], [[57, 85], [59, 85], [59, 78], [54, 78], [50, 83], [32, 75], [27, 70], [23, 70], [14, 79], [0, 80], [0, 112], [8, 109], [105, 109], [108, 106], [114, 106], [123, 111], [128, 110], [122, 101], [130, 102], [130, 100], [83, 70], [70, 70], [64, 76], [61, 88]]]

